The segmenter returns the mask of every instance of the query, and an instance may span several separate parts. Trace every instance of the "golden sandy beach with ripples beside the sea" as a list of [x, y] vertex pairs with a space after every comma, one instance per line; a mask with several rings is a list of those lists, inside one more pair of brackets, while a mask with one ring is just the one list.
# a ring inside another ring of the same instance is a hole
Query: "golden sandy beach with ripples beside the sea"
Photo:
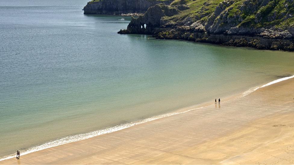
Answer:
[[292, 78], [0, 164], [294, 164], [293, 97]]

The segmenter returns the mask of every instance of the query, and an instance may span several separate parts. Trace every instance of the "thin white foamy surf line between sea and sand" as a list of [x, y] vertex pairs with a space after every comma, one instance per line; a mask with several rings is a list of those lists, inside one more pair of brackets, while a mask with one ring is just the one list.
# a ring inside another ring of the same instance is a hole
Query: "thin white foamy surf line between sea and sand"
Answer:
[[[263, 87], [267, 87], [267, 86], [269, 86], [269, 85], [272, 85], [272, 84], [277, 84], [277, 85], [279, 85], [280, 83], [279, 82], [281, 82], [281, 81], [285, 81], [285, 80], [288, 80], [288, 79], [290, 79], [290, 78], [293, 78], [294, 76], [289, 76], [289, 77], [285, 77], [285, 78], [280, 78], [280, 79], [277, 79], [277, 80], [274, 80], [274, 81], [271, 81], [270, 83], [267, 83], [267, 84], [265, 84], [265, 85], [263, 85], [263, 86], [261, 86], [261, 87], [258, 87], [258, 88], [255, 88], [255, 90], [253, 90], [253, 91], [251, 91], [250, 93], [252, 93], [252, 92], [254, 92], [254, 91], [256, 91], [256, 90], [258, 90], [258, 89], [260, 89], [260, 88], [263, 88]], [[245, 97], [245, 96], [248, 96], [250, 93], [248, 93], [248, 94], [246, 94], [246, 95], [244, 95], [243, 97]], [[242, 97], [241, 97], [242, 98]], [[237, 98], [238, 99], [238, 98]], [[235, 99], [234, 99], [235, 100]], [[231, 101], [231, 100], [230, 100]], [[223, 101], [224, 102], [224, 101]], [[212, 104], [213, 105], [213, 104]], [[177, 115], [179, 115], [179, 114], [185, 114], [186, 112], [191, 112], [192, 110], [195, 110], [195, 109], [202, 109], [202, 108], [207, 108], [208, 106], [212, 106], [212, 105], [207, 105], [207, 106], [205, 106], [205, 107], [200, 107], [200, 108], [194, 108], [194, 109], [189, 109], [189, 110], [186, 110], [186, 111], [183, 111], [183, 112], [173, 112], [173, 113], [168, 113], [168, 114], [164, 114], [164, 115], [158, 115], [157, 117], [158, 118], [147, 118], [147, 119], [143, 119], [143, 120], [140, 120], [141, 122], [139, 122], [139, 123], [135, 123], [136, 121], [134, 121], [134, 122], [130, 122], [130, 123], [127, 123], [127, 124], [129, 124], [127, 127], [120, 127], [119, 129], [117, 129], [117, 130], [113, 130], [113, 129], [110, 129], [110, 131], [106, 131], [106, 130], [103, 130], [104, 131], [104, 133], [102, 133], [102, 134], [99, 134], [100, 136], [101, 135], [108, 135], [108, 134], [111, 134], [111, 133], [114, 133], [114, 132], [117, 132], [118, 130], [126, 130], [126, 129], [130, 129], [130, 127], [132, 127], [132, 126], [135, 126], [135, 125], [137, 125], [137, 127], [139, 127], [139, 125], [141, 125], [141, 124], [146, 124], [146, 123], [149, 123], [150, 121], [157, 121], [157, 120], [164, 120], [166, 117], [172, 117], [172, 116], [177, 116]], [[217, 105], [216, 105], [217, 106]], [[197, 113], [197, 111], [194, 111], [194, 112], [196, 112]], [[167, 120], [167, 119], [166, 119]], [[148, 124], [147, 124], [148, 125]], [[120, 125], [118, 125], [118, 126], [120, 126]], [[114, 126], [114, 127], [116, 127], [117, 128], [117, 126]], [[113, 127], [111, 127], [111, 128], [113, 128]], [[132, 128], [131, 128], [132, 129]], [[102, 132], [103, 132], [102, 131]], [[93, 132], [99, 132], [99, 133], [101, 133], [101, 130], [100, 131], [93, 131]], [[118, 132], [120, 132], [120, 131], [118, 131]], [[92, 133], [92, 132], [91, 132]], [[82, 134], [82, 135], [84, 135], [84, 134]], [[85, 140], [85, 139], [92, 139], [92, 138], [97, 138], [97, 137], [99, 137], [98, 135], [94, 135], [94, 136], [87, 136], [86, 138], [84, 138], [84, 139], [80, 139], [80, 140], [76, 140], [76, 141], [70, 141], [70, 142], [65, 142], [65, 143], [62, 143], [62, 144], [59, 144], [59, 145], [55, 145], [55, 146], [50, 146], [50, 147], [48, 147], [48, 148], [42, 148], [42, 149], [40, 149], [39, 148], [39, 150], [36, 150], [36, 151], [31, 151], [31, 152], [28, 152], [28, 153], [26, 153], [26, 154], [29, 154], [29, 153], [35, 153], [35, 152], [37, 152], [37, 151], [42, 151], [42, 150], [46, 150], [46, 149], [50, 149], [50, 148], [55, 148], [56, 146], [58, 147], [58, 146], [62, 146], [62, 145], [64, 145], [64, 144], [69, 144], [69, 143], [74, 143], [74, 142], [81, 142], [81, 141], [83, 141], [83, 140]], [[47, 143], [46, 143], [47, 144]], [[22, 155], [25, 155], [25, 154], [22, 154]], [[14, 157], [14, 156], [13, 156]], [[3, 160], [9, 160], [9, 158], [10, 157], [7, 157], [7, 158], [4, 158], [4, 159], [2, 159], [1, 161], [0, 161], [0, 163], [2, 163], [3, 162]], [[5, 162], [5, 161], [4, 161]], [[4, 163], [3, 162], [3, 163]]]

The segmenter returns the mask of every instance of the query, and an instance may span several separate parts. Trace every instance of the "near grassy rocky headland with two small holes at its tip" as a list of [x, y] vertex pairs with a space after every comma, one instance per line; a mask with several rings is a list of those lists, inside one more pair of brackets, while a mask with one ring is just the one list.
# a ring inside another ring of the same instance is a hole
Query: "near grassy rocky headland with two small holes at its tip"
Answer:
[[118, 33], [293, 51], [294, 2], [175, 0], [150, 7]]

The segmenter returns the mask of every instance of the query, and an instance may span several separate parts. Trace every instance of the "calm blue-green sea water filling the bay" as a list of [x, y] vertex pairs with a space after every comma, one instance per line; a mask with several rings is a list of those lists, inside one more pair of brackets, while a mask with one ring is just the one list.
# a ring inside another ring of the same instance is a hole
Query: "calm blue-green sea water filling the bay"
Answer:
[[86, 3], [0, 1], [0, 158], [294, 75], [294, 53], [119, 35]]

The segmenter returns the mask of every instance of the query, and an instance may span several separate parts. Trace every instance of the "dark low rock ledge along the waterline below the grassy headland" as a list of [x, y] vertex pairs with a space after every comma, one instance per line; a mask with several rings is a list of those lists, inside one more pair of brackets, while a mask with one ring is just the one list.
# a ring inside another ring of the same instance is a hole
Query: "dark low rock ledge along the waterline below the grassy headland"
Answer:
[[158, 34], [154, 34], [153, 36], [158, 39], [184, 39], [236, 47], [254, 47], [257, 49], [294, 51], [293, 39], [280, 37], [280, 35], [277, 38], [270, 38], [257, 35], [210, 34], [204, 32], [203, 28], [193, 30], [192, 28], [183, 26], [178, 27], [177, 29], [162, 31]]

